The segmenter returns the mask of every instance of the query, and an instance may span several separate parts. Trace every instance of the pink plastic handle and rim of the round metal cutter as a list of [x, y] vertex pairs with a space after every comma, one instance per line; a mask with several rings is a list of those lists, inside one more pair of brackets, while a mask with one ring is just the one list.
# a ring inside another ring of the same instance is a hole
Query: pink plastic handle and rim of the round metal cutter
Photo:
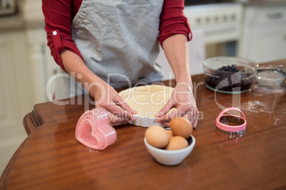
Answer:
[[[240, 111], [240, 113], [242, 113], [242, 115], [243, 115], [243, 118], [240, 117], [240, 116], [236, 116], [236, 115], [223, 115], [224, 113], [226, 113], [228, 111]], [[221, 123], [221, 121], [220, 121], [221, 120], [221, 116], [233, 116], [233, 117], [237, 117], [237, 118], [242, 118], [244, 123], [241, 124], [241, 125], [226, 125], [224, 123]], [[220, 128], [221, 130], [225, 130], [225, 131], [228, 131], [228, 132], [238, 132], [238, 131], [245, 130], [246, 123], [247, 122], [246, 122], [244, 113], [239, 108], [235, 108], [235, 107], [225, 108], [223, 111], [221, 111], [221, 113], [216, 118], [216, 126], [218, 128]]]

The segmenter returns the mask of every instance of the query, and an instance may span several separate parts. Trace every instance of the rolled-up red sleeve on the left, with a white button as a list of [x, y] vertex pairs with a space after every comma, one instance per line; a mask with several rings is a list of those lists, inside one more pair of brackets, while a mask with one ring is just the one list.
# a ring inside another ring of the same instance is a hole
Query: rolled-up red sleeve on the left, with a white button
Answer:
[[63, 67], [60, 52], [65, 48], [75, 52], [82, 59], [83, 56], [76, 47], [71, 32], [71, 22], [81, 4], [73, 7], [74, 0], [42, 0], [43, 15], [45, 16], [45, 30], [47, 32], [48, 46], [55, 62]]

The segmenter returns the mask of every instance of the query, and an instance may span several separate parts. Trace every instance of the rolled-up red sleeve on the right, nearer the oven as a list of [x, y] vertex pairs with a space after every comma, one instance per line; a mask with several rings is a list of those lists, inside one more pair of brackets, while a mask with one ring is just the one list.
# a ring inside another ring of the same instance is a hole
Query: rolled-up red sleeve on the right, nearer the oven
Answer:
[[191, 40], [191, 28], [184, 16], [184, 0], [165, 0], [160, 16], [159, 42], [174, 34], [184, 34]]

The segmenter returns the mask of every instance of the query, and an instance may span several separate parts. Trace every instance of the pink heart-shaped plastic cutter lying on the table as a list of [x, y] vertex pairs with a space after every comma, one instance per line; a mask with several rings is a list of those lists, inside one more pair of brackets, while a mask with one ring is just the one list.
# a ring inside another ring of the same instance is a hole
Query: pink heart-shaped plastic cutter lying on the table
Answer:
[[105, 108], [85, 111], [75, 128], [75, 138], [94, 150], [104, 150], [117, 140], [115, 128], [109, 124], [109, 114]]

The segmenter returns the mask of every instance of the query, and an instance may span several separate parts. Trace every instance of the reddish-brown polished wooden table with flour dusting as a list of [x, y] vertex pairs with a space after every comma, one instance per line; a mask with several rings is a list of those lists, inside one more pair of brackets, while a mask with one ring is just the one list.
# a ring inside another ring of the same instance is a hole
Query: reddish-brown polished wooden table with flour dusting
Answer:
[[[117, 141], [105, 150], [81, 145], [75, 125], [93, 106], [77, 96], [65, 106], [37, 104], [24, 118], [28, 138], [2, 174], [0, 189], [285, 189], [285, 86], [254, 84], [245, 94], [228, 95], [206, 89], [203, 75], [192, 79], [201, 118], [194, 150], [181, 164], [157, 163], [144, 146], [146, 128], [134, 125], [116, 127]], [[215, 132], [216, 117], [230, 106], [245, 113], [243, 138]]]

